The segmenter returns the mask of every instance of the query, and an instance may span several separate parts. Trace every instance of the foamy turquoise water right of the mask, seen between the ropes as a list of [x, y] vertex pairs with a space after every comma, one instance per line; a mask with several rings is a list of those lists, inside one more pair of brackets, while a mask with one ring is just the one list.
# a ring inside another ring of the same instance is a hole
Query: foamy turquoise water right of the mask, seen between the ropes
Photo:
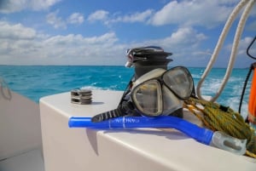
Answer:
[[[203, 73], [203, 69], [201, 71], [196, 68], [190, 69], [193, 74], [195, 85], [197, 85], [198, 81], [201, 78], [201, 74]], [[248, 69], [234, 69], [232, 75], [227, 83], [224, 91], [218, 98], [217, 102], [221, 105], [230, 106], [235, 111], [238, 111], [240, 100], [241, 100], [241, 91], [244, 85], [245, 77], [247, 76]], [[201, 94], [213, 96], [218, 91], [220, 84], [222, 83], [224, 77], [225, 69], [222, 68], [214, 68], [210, 75], [207, 77], [206, 81], [201, 88]], [[251, 79], [247, 83], [247, 85], [251, 85]], [[246, 94], [244, 95], [244, 100], [241, 105], [241, 114], [243, 117], [247, 116], [247, 101], [249, 98], [249, 86], [246, 89]]]

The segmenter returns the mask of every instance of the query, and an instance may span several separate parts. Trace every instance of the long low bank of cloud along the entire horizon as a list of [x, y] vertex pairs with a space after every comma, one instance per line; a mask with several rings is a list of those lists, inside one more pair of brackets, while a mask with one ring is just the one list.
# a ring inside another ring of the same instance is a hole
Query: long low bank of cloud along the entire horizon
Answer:
[[[201, 48], [206, 40], [205, 34], [190, 26], [180, 27], [168, 37], [123, 44], [119, 43], [114, 32], [95, 37], [84, 37], [79, 34], [50, 37], [40, 35], [38, 31], [21, 24], [0, 21], [0, 64], [123, 65], [126, 48], [157, 45], [173, 53], [173, 65], [206, 66], [210, 59], [208, 54], [212, 53], [216, 44], [212, 42], [212, 46], [207, 49]], [[241, 39], [238, 66], [247, 66], [248, 60], [245, 60], [244, 53], [251, 40], [252, 37]], [[229, 54], [230, 48], [224, 48], [224, 53]], [[255, 48], [252, 53], [255, 54]], [[224, 65], [223, 60], [219, 65]]]

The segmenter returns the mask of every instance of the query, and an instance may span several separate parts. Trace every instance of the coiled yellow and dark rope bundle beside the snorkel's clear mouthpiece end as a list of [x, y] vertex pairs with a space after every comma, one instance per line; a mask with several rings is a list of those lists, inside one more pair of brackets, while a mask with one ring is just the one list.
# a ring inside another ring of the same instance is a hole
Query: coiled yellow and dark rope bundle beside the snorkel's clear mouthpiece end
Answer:
[[[201, 108], [199, 105], [202, 105]], [[241, 115], [232, 109], [222, 107], [218, 103], [207, 100], [189, 98], [185, 100], [184, 107], [195, 114], [207, 128], [212, 131], [222, 131], [237, 139], [247, 139], [247, 153], [249, 157], [256, 158], [256, 137], [253, 128], [244, 122]], [[223, 110], [223, 108], [225, 110]], [[196, 111], [201, 111], [202, 116]]]

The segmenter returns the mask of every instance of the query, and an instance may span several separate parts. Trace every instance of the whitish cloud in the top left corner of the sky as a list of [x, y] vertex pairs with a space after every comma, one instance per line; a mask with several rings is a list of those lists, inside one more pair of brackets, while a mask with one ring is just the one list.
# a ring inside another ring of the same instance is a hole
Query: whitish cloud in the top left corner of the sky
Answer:
[[35, 11], [49, 9], [55, 3], [61, 0], [1, 0], [0, 13], [14, 13], [23, 9], [32, 9]]

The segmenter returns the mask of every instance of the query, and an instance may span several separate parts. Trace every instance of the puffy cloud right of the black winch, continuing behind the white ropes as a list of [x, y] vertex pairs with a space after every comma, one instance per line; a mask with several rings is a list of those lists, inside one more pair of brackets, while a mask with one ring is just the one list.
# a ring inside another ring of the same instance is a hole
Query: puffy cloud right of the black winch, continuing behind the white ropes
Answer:
[[[177, 29], [177, 31], [172, 32], [169, 37], [164, 37], [160, 39], [148, 40], [142, 43], [133, 43], [133, 47], [148, 46], [148, 45], [158, 45], [164, 48], [167, 52], [172, 52], [170, 58], [173, 59], [173, 65], [182, 66], [207, 66], [209, 62], [213, 49], [217, 42], [211, 42], [208, 44], [207, 48], [202, 48], [203, 43], [206, 43], [208, 37], [196, 31], [190, 26], [183, 26]], [[246, 49], [249, 43], [251, 43], [253, 37], [243, 37], [240, 40], [239, 48], [237, 51], [235, 67], [249, 67], [252, 60], [247, 57]], [[256, 46], [250, 50], [250, 53], [256, 54]], [[220, 54], [218, 55], [218, 60], [216, 60], [216, 66], [226, 67], [229, 61], [231, 52], [231, 44], [224, 46]], [[171, 65], [172, 65], [171, 63]]]

